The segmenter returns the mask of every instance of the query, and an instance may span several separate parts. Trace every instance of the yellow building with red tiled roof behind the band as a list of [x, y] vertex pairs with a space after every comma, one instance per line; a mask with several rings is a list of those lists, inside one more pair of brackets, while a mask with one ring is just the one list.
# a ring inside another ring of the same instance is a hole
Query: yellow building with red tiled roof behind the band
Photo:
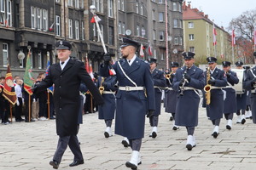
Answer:
[[190, 8], [183, 3], [183, 38], [184, 51], [195, 53], [200, 63], [206, 63], [207, 57], [215, 56], [218, 63], [221, 60], [232, 61], [230, 34], [223, 27], [214, 25], [216, 30], [216, 45], [213, 45], [213, 22], [208, 15], [197, 8]]

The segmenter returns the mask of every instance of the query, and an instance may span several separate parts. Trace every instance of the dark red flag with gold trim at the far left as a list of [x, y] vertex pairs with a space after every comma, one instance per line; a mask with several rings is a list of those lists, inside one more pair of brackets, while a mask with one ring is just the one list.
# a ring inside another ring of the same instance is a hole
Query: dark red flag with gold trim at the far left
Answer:
[[5, 82], [3, 85], [3, 97], [9, 101], [12, 105], [15, 105], [17, 101], [17, 96], [15, 93], [15, 84], [13, 82], [12, 73], [10, 71], [9, 65], [7, 67], [7, 72], [5, 76]]

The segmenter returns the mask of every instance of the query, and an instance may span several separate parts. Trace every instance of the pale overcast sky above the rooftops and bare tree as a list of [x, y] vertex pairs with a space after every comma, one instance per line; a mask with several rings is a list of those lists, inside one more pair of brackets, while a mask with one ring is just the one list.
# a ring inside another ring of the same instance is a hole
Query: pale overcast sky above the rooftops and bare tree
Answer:
[[192, 8], [198, 8], [209, 15], [218, 26], [229, 26], [233, 18], [240, 16], [247, 10], [256, 8], [256, 0], [186, 0], [191, 2]]

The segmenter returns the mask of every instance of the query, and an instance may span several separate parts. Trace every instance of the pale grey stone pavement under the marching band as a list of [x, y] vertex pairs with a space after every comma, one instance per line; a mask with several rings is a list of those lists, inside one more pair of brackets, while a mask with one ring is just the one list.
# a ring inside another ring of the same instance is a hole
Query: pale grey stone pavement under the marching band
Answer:
[[[125, 161], [130, 161], [131, 149], [123, 147], [123, 137], [113, 135], [105, 139], [105, 124], [97, 119], [97, 113], [84, 115], [83, 118], [84, 124], [79, 130], [79, 140], [84, 154], [84, 164], [68, 167], [73, 161], [73, 154], [67, 149], [59, 169], [128, 169], [125, 167]], [[231, 130], [225, 129], [225, 123], [222, 119], [220, 134], [217, 139], [213, 139], [212, 123], [207, 119], [205, 109], [200, 109], [199, 126], [195, 129], [197, 145], [188, 151], [185, 148], [185, 127], [173, 131], [169, 114], [163, 111], [160, 115], [156, 139], [148, 137], [151, 127], [147, 119], [141, 150], [143, 163], [138, 169], [256, 169], [256, 125], [249, 119], [244, 125], [236, 124], [236, 115]], [[14, 121], [10, 125], [1, 124], [0, 133], [1, 170], [52, 169], [49, 161], [54, 155], [58, 140], [54, 120], [30, 123]]]

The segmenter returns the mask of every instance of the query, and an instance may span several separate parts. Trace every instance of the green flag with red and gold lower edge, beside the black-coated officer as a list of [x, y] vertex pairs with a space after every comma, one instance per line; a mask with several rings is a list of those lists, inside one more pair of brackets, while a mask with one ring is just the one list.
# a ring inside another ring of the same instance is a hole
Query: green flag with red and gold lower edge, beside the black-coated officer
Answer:
[[24, 74], [24, 89], [29, 95], [32, 95], [32, 86], [34, 84], [34, 79], [32, 77], [32, 65], [31, 65], [31, 59], [30, 59], [30, 51], [27, 54], [26, 58], [26, 70]]

